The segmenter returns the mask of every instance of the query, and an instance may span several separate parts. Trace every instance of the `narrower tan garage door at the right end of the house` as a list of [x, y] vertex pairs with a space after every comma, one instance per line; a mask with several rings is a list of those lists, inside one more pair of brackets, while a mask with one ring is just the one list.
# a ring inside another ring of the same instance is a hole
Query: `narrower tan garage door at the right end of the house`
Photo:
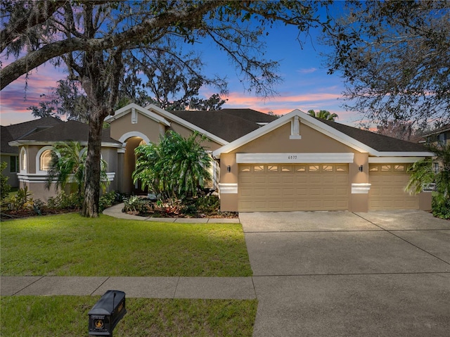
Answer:
[[409, 174], [406, 164], [369, 164], [369, 210], [418, 210], [419, 196], [405, 192]]

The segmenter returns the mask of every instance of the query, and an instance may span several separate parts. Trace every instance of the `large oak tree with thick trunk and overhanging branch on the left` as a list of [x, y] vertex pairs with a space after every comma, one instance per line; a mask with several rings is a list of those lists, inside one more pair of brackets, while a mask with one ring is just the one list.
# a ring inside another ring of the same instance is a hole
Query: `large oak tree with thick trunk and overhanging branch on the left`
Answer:
[[45, 62], [65, 64], [89, 109], [82, 215], [98, 216], [101, 131], [114, 113], [125, 51], [159, 51], [177, 44], [214, 44], [236, 66], [245, 89], [269, 96], [281, 78], [264, 58], [264, 36], [275, 22], [329, 28], [319, 9], [330, 1], [58, 1], [1, 2], [0, 52], [15, 61], [0, 70], [0, 88]]

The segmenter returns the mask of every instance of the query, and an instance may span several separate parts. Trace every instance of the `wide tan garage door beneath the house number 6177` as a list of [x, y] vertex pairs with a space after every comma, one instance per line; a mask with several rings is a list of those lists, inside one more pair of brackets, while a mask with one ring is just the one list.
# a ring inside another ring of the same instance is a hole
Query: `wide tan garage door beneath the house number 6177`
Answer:
[[240, 164], [240, 212], [348, 210], [348, 164]]

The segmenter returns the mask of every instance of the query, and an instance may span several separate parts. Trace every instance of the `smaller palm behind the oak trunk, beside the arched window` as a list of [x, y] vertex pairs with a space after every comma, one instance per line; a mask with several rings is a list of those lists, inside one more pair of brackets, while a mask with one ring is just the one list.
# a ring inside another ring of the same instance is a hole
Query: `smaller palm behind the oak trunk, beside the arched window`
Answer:
[[[52, 183], [55, 189], [65, 189], [72, 177], [77, 185], [77, 191], [81, 195], [84, 191], [84, 172], [86, 163], [85, 147], [79, 141], [58, 142], [51, 151], [50, 169], [47, 174], [46, 189], [50, 189]], [[109, 183], [106, 175], [107, 163], [101, 160], [101, 182], [103, 187]]]

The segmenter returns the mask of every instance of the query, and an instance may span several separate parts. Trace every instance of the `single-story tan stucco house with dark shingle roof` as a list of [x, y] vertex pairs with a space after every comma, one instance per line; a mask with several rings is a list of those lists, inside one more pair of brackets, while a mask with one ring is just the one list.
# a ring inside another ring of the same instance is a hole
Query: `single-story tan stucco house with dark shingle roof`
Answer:
[[[42, 120], [27, 122], [25, 134], [10, 132], [8, 144], [17, 148], [18, 181], [29, 186], [34, 198], [45, 199], [54, 193], [43, 187], [46, 151], [55, 141], [85, 143], [87, 127]], [[404, 191], [409, 165], [433, 155], [422, 144], [319, 120], [300, 110], [276, 117], [251, 109], [168, 112], [132, 103], [105, 122], [110, 128], [103, 130], [102, 157], [108, 162], [110, 190], [141, 192], [131, 179], [139, 144], [158, 142], [167, 130], [182, 136], [198, 131], [208, 138], [203, 146], [214, 158], [214, 186], [224, 211], [431, 208], [431, 193]]]

